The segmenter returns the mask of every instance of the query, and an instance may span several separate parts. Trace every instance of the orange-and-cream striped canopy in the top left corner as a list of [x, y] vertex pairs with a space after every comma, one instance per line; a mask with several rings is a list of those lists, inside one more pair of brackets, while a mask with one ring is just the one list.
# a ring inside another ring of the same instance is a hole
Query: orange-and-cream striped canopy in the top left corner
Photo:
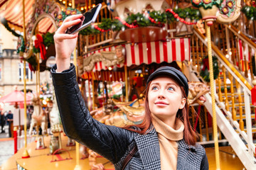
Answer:
[[[33, 5], [35, 0], [25, 0], [25, 23], [27, 25], [29, 18], [33, 13]], [[0, 17], [6, 19], [9, 27], [14, 30], [23, 31], [23, 6], [22, 0], [1, 0], [0, 1]], [[53, 33], [55, 28], [48, 18], [44, 18], [38, 23], [40, 33]]]

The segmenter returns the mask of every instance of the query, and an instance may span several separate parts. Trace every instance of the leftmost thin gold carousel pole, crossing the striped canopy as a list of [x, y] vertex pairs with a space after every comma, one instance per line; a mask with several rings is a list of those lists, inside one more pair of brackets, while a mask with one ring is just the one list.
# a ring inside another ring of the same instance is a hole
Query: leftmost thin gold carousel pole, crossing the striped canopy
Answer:
[[[24, 44], [26, 45], [26, 25], [25, 25], [25, 0], [22, 1], [22, 7], [23, 7], [23, 38], [24, 38]], [[27, 136], [26, 136], [26, 59], [23, 58], [23, 81], [24, 81], [24, 150], [22, 154], [22, 158], [29, 158], [29, 154], [27, 151]]]

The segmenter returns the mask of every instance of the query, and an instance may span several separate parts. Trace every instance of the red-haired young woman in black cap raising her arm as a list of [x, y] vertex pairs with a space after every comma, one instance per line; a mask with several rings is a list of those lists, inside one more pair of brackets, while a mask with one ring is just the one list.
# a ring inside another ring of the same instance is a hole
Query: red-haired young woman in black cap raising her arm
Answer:
[[70, 64], [78, 34], [65, 34], [81, 16], [66, 18], [54, 35], [51, 72], [66, 135], [109, 159], [115, 169], [208, 169], [206, 152], [196, 144], [188, 120], [187, 79], [173, 67], [160, 67], [147, 80], [141, 125], [117, 128], [90, 116]]

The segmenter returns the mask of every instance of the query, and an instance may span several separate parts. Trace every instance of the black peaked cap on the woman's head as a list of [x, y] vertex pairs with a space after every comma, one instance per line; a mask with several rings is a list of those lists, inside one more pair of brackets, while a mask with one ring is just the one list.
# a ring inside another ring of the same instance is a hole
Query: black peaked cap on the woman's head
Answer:
[[174, 67], [164, 66], [156, 69], [150, 76], [149, 79], [146, 81], [146, 87], [149, 84], [149, 81], [153, 80], [156, 76], [159, 75], [166, 75], [170, 76], [171, 78], [174, 78], [178, 84], [183, 86], [186, 96], [188, 96], [188, 79], [185, 77], [185, 75], [179, 71], [178, 69], [175, 69]]

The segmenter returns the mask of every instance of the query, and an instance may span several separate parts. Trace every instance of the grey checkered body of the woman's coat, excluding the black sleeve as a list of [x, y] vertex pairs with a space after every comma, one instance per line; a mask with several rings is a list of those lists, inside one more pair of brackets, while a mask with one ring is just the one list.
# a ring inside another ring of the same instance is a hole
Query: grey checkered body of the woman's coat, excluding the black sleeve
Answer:
[[[115, 169], [122, 169], [122, 163], [127, 154], [137, 145], [138, 152], [132, 157], [125, 167], [125, 170], [136, 169], [161, 169], [160, 147], [156, 130], [153, 129], [146, 135], [137, 135], [134, 137], [135, 142], [129, 145], [126, 154], [117, 164]], [[187, 145], [184, 140], [178, 141], [178, 162], [177, 169], [183, 170], [208, 170], [208, 160], [206, 151], [201, 145]]]

